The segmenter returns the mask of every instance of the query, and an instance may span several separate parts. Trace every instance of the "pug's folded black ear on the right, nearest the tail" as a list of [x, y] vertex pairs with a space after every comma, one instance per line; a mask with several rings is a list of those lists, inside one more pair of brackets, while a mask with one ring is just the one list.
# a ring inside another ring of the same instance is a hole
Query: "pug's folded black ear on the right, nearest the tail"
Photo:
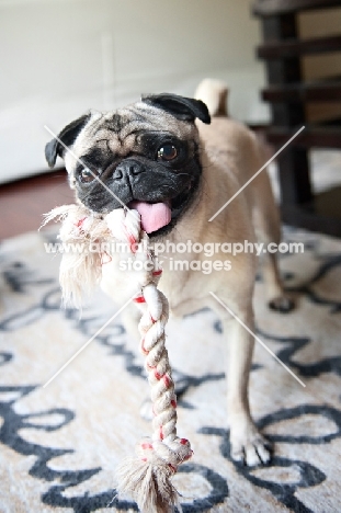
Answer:
[[207, 125], [211, 123], [208, 109], [201, 100], [171, 93], [144, 94], [141, 100], [145, 103], [169, 112], [178, 117], [178, 119], [194, 122], [195, 117], [197, 117]]

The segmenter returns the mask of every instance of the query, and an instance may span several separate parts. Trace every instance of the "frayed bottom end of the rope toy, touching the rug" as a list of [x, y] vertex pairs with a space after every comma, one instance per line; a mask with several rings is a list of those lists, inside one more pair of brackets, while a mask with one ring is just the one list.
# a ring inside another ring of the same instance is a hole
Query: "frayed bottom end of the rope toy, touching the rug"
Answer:
[[130, 495], [143, 513], [181, 513], [179, 493], [171, 482], [174, 470], [161, 458], [127, 458], [116, 469], [117, 492]]

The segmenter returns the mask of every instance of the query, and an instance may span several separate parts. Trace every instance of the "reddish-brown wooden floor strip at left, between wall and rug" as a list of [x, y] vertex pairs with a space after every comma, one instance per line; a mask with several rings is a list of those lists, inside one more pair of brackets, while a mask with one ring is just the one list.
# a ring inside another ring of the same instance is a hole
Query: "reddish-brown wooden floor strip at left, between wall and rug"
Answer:
[[73, 193], [65, 170], [0, 185], [0, 240], [37, 230], [43, 214], [68, 203]]

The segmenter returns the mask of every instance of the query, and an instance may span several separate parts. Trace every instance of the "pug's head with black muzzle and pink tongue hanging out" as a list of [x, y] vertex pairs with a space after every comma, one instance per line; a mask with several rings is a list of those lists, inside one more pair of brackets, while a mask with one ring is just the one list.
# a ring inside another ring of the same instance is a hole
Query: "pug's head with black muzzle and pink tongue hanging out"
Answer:
[[206, 105], [175, 94], [143, 96], [115, 112], [90, 112], [46, 145], [49, 167], [65, 161], [77, 198], [107, 214], [126, 205], [151, 236], [169, 232], [194, 200], [202, 173], [195, 118]]

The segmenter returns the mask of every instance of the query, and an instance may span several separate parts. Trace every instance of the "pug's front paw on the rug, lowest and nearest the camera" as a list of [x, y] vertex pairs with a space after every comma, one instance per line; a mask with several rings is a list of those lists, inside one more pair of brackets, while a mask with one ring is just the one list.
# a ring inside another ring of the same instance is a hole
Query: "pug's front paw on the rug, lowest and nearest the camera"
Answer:
[[230, 441], [231, 458], [248, 467], [268, 465], [271, 459], [271, 444], [259, 432], [252, 433], [241, 442]]

